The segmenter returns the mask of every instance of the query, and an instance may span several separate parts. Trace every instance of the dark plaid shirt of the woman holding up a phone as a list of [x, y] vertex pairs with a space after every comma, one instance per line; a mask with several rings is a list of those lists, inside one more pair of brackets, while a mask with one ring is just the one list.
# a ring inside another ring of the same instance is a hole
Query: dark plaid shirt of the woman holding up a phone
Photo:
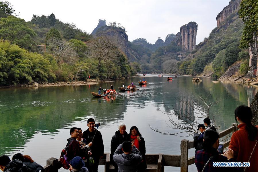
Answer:
[[[212, 156], [211, 153], [205, 151], [205, 150], [198, 150], [195, 153], [195, 165], [197, 167], [198, 172], [201, 172], [209, 158]], [[213, 162], [236, 162], [235, 159], [231, 158], [228, 160], [226, 156], [215, 154], [213, 155], [213, 158], [209, 161], [209, 163], [206, 165], [203, 172], [242, 172], [243, 169], [237, 168], [237, 167], [213, 167]]]

